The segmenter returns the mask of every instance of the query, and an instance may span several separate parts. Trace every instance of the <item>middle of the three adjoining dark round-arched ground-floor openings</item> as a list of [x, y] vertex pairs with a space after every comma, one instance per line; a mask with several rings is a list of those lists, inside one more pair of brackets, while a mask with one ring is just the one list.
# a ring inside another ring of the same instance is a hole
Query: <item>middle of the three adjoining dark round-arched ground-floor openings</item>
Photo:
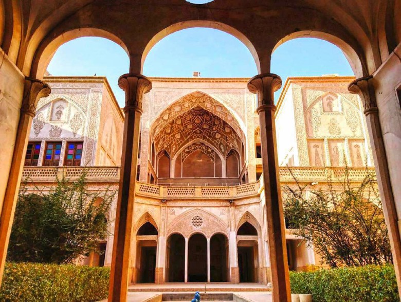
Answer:
[[188, 282], [207, 282], [207, 240], [195, 234], [188, 242]]

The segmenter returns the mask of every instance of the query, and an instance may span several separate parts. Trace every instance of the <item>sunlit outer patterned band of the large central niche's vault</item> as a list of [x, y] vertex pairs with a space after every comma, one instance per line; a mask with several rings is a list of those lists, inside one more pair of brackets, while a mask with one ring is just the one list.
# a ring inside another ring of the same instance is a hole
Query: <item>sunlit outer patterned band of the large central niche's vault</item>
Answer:
[[238, 134], [242, 139], [245, 139], [240, 124], [235, 117], [233, 117], [230, 111], [222, 103], [202, 92], [194, 92], [186, 95], [168, 106], [168, 108], [166, 108], [153, 122], [151, 131], [152, 137], [157, 136], [158, 133], [168, 125], [168, 123], [176, 119], [178, 116], [196, 107], [201, 107], [213, 113], [215, 116], [220, 117], [226, 123], [229, 123], [230, 127], [236, 132], [236, 134]]

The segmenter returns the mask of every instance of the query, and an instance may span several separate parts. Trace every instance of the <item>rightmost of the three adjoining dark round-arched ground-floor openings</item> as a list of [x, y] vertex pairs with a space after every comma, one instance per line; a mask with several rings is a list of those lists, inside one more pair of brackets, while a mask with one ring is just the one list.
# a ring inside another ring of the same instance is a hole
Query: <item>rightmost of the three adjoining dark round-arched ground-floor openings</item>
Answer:
[[227, 282], [227, 238], [216, 234], [210, 239], [210, 281]]

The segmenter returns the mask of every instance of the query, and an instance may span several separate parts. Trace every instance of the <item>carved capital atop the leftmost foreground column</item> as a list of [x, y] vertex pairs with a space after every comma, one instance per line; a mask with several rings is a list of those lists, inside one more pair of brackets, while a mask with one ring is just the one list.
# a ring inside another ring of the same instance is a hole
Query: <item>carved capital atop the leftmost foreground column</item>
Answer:
[[36, 106], [40, 98], [48, 97], [51, 88], [45, 82], [25, 77], [24, 97], [22, 99], [21, 113], [35, 116]]

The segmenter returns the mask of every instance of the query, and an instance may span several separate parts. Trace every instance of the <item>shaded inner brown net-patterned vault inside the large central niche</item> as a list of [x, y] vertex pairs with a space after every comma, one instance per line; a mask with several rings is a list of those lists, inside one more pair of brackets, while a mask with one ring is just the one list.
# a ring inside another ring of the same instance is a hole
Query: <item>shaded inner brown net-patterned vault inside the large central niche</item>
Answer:
[[231, 149], [240, 152], [242, 140], [234, 129], [223, 119], [197, 106], [172, 121], [154, 138], [156, 151], [165, 149], [173, 158], [192, 141], [203, 141], [225, 157]]

